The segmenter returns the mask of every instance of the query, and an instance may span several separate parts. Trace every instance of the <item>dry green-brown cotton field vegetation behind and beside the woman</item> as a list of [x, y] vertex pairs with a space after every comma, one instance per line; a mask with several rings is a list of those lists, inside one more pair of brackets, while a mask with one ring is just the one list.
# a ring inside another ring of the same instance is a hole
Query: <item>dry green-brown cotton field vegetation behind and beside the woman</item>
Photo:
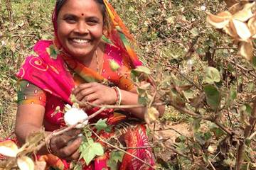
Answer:
[[[15, 73], [37, 40], [53, 36], [54, 3], [0, 0], [0, 140], [14, 128]], [[159, 168], [197, 169], [199, 164], [201, 169], [234, 169], [238, 147], [247, 142], [241, 169], [255, 169], [255, 149], [249, 144], [255, 141], [245, 141], [242, 133], [255, 97], [255, 67], [237, 55], [238, 49], [230, 38], [206, 24], [206, 11], [223, 11], [225, 3], [112, 0], [112, 4], [137, 40], [137, 52], [156, 81], [169, 77], [173, 83], [165, 89], [174, 93], [164, 97], [175, 101], [176, 109], [166, 108], [164, 118], [155, 127], [161, 132], [171, 130], [168, 135], [158, 134], [162, 135], [161, 143], [155, 147]], [[204, 81], [207, 67], [217, 68], [221, 78], [214, 86], [208, 86], [213, 87], [209, 93]], [[190, 116], [177, 108], [188, 108], [198, 115]], [[174, 130], [178, 123], [182, 126]], [[178, 134], [174, 140], [172, 134]]]

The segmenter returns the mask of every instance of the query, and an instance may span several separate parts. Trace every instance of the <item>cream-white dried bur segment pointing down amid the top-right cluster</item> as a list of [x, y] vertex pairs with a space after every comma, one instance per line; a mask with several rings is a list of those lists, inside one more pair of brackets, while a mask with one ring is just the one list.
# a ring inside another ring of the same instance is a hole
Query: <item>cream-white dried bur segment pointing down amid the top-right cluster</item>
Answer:
[[251, 37], [252, 34], [250, 33], [250, 30], [245, 23], [242, 23], [241, 21], [235, 19], [233, 19], [231, 23], [233, 23], [236, 33], [238, 33], [239, 37], [242, 40], [246, 41]]

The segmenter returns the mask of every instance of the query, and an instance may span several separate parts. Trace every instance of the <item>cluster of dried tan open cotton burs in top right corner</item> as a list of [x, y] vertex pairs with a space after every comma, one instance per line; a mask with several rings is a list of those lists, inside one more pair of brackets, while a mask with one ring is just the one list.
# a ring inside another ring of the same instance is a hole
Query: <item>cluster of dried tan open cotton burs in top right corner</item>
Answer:
[[256, 39], [255, 2], [226, 1], [230, 8], [217, 15], [207, 13], [207, 22], [222, 30], [239, 45], [240, 55], [253, 62], [253, 43]]

